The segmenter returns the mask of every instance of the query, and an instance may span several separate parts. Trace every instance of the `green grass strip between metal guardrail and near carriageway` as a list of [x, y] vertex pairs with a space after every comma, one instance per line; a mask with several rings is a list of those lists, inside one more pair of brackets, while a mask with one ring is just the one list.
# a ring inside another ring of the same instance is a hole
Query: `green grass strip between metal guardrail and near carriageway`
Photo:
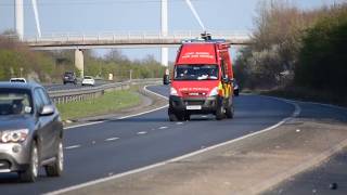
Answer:
[[81, 102], [56, 105], [63, 120], [114, 113], [140, 104], [140, 94], [134, 89], [105, 92], [104, 95]]

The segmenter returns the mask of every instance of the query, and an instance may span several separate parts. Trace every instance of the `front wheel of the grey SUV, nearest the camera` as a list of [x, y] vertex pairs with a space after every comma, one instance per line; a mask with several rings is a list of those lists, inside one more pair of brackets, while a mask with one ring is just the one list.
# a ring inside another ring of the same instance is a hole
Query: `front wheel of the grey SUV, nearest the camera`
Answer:
[[35, 182], [39, 170], [39, 155], [36, 142], [33, 143], [30, 150], [30, 162], [28, 169], [20, 172], [20, 178], [23, 182]]

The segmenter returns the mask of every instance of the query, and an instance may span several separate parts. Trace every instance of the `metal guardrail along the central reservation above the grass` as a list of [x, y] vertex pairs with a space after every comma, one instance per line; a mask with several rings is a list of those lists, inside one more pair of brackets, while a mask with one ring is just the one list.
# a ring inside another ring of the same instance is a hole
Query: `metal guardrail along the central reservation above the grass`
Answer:
[[99, 87], [80, 88], [70, 90], [48, 91], [50, 98], [55, 104], [64, 104], [67, 102], [78, 102], [99, 98], [105, 91], [117, 91], [129, 89], [133, 84], [160, 83], [162, 79], [132, 79], [131, 81], [106, 83]]

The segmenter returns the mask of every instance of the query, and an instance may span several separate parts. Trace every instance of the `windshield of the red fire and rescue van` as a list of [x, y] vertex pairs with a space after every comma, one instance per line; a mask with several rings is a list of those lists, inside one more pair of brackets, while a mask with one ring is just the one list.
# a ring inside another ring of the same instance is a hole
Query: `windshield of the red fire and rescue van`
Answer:
[[218, 66], [210, 64], [178, 65], [175, 67], [175, 80], [217, 80]]

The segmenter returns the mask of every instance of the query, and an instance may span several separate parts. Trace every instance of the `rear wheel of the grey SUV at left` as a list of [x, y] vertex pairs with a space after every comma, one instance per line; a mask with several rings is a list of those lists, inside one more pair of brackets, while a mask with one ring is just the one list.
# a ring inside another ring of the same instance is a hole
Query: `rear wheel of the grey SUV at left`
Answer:
[[55, 161], [52, 165], [44, 166], [48, 177], [60, 177], [64, 170], [64, 148], [62, 141], [59, 142]]

